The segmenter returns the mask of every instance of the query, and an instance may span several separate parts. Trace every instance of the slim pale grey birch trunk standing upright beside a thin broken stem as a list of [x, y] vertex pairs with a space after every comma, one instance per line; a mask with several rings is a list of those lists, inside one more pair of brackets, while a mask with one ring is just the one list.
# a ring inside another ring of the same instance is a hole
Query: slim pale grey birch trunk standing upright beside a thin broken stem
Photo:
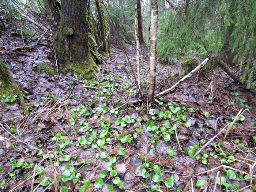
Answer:
[[157, 57], [157, 0], [151, 0], [151, 25], [150, 25], [150, 75], [148, 100], [154, 101], [155, 94], [155, 67]]

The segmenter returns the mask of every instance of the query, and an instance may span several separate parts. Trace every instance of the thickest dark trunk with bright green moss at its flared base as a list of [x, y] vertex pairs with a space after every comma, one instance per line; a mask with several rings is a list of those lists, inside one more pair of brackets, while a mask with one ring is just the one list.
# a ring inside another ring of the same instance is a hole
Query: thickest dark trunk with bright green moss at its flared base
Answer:
[[62, 0], [61, 23], [54, 38], [60, 72], [71, 69], [87, 79], [97, 71], [89, 50], [88, 8], [88, 0]]

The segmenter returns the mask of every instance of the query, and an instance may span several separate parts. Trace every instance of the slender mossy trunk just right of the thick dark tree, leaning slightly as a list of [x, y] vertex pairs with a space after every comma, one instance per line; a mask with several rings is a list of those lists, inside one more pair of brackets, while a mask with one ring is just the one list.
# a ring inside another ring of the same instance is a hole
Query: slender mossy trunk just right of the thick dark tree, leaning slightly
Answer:
[[101, 5], [99, 3], [99, 0], [95, 0], [96, 8], [97, 8], [97, 13], [98, 13], [98, 19], [99, 19], [99, 28], [101, 31], [100, 37], [101, 41], [103, 44], [103, 52], [106, 54], [108, 53], [108, 45], [106, 42], [106, 35], [107, 35], [107, 25], [104, 17], [104, 12], [101, 8]]

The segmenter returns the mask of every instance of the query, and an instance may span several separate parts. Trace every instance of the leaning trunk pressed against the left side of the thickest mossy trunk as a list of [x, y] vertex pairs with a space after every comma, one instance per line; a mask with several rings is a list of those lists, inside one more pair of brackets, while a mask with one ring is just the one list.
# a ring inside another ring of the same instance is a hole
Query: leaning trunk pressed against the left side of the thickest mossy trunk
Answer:
[[61, 19], [58, 2], [56, 0], [44, 0], [44, 4], [54, 37], [57, 34]]

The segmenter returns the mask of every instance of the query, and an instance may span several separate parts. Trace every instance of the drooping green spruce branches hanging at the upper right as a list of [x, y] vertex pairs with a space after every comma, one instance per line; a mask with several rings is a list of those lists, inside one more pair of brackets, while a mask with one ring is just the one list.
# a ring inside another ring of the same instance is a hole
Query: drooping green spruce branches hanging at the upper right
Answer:
[[[186, 10], [186, 11], [185, 11]], [[240, 82], [256, 87], [256, 1], [201, 0], [159, 17], [158, 56], [215, 53], [217, 61], [240, 64]]]

